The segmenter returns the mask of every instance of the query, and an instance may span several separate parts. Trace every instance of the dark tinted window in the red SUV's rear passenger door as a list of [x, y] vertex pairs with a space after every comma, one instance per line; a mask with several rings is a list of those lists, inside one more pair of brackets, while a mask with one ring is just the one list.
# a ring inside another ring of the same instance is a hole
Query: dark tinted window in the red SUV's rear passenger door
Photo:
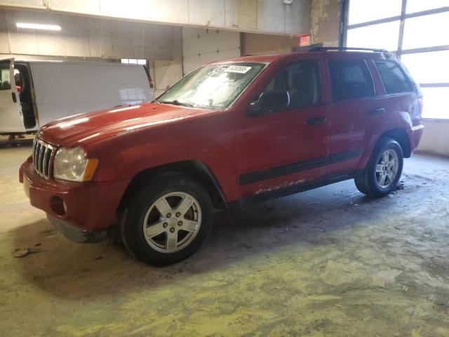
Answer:
[[375, 95], [373, 77], [363, 60], [329, 61], [330, 81], [335, 101]]

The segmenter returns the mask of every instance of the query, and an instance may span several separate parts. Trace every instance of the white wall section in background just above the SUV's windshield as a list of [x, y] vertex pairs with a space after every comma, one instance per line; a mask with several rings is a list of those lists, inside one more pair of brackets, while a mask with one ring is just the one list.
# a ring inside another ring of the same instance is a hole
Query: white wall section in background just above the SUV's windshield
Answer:
[[182, 66], [184, 74], [207, 62], [238, 58], [240, 34], [217, 29], [182, 28]]

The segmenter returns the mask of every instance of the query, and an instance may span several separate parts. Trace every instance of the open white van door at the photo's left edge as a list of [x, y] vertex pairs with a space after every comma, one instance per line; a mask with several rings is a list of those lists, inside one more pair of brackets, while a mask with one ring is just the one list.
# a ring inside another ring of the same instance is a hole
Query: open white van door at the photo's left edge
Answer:
[[0, 133], [25, 133], [12, 58], [0, 60]]

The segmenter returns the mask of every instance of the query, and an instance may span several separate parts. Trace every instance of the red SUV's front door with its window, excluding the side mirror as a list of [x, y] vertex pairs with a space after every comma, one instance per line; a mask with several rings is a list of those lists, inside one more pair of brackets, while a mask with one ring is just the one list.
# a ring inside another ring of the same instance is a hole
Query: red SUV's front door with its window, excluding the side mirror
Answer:
[[320, 65], [302, 60], [284, 67], [262, 92], [287, 91], [285, 109], [251, 117], [237, 128], [241, 197], [283, 192], [326, 176], [327, 106], [323, 105]]

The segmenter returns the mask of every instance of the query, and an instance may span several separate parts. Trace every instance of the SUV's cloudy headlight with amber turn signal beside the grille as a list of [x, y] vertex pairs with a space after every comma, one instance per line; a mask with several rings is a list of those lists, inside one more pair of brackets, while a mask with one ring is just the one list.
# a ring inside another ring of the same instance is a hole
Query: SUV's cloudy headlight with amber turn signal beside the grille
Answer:
[[90, 181], [98, 159], [88, 159], [82, 147], [60, 147], [53, 162], [53, 177], [62, 180]]

